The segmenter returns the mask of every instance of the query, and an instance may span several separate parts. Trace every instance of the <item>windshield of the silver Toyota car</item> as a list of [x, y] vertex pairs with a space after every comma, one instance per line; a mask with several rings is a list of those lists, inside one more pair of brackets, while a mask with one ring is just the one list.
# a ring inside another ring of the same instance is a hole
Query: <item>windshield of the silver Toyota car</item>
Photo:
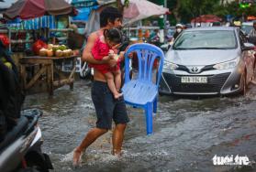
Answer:
[[173, 49], [226, 49], [237, 48], [237, 39], [232, 30], [184, 31], [177, 38]]

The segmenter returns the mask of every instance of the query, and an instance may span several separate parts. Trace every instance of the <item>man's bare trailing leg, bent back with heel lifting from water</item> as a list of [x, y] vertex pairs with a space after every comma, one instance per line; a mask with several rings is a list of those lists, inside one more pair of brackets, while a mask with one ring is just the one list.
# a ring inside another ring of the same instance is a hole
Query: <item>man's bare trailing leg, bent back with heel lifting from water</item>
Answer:
[[86, 134], [86, 136], [83, 138], [82, 143], [77, 146], [73, 151], [72, 163], [74, 166], [77, 166], [79, 164], [82, 151], [85, 150], [89, 145], [93, 144], [99, 136], [101, 136], [102, 134], [106, 134], [106, 132], [106, 129], [93, 128]]

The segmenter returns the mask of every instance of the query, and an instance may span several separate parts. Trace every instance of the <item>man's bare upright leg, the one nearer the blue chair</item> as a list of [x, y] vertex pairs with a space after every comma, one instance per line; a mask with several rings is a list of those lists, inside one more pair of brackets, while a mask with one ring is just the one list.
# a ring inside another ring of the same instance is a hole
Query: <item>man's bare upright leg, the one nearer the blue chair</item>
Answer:
[[112, 135], [112, 144], [113, 144], [112, 154], [114, 156], [120, 156], [121, 154], [126, 126], [127, 124], [117, 124], [114, 129], [114, 132]]

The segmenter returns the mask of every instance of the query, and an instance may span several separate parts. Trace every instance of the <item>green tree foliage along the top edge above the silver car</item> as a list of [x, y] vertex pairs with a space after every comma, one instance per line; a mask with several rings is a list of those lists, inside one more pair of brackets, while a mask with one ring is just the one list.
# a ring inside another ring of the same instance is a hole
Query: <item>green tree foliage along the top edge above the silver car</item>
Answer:
[[[150, 2], [162, 5], [164, 0], [150, 0]], [[227, 15], [240, 17], [256, 16], [256, 4], [249, 8], [239, 8], [239, 1], [225, 4], [223, 0], [167, 0], [167, 7], [173, 13], [169, 20], [187, 23], [195, 16], [216, 15], [225, 19]]]

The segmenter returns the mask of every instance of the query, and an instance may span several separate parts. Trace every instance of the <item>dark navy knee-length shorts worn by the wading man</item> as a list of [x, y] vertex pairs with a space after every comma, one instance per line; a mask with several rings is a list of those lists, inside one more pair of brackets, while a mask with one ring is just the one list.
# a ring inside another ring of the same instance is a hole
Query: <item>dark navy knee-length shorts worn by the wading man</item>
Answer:
[[106, 82], [94, 81], [91, 93], [97, 115], [97, 128], [111, 129], [112, 119], [115, 124], [127, 124], [129, 122], [124, 97], [114, 99]]

